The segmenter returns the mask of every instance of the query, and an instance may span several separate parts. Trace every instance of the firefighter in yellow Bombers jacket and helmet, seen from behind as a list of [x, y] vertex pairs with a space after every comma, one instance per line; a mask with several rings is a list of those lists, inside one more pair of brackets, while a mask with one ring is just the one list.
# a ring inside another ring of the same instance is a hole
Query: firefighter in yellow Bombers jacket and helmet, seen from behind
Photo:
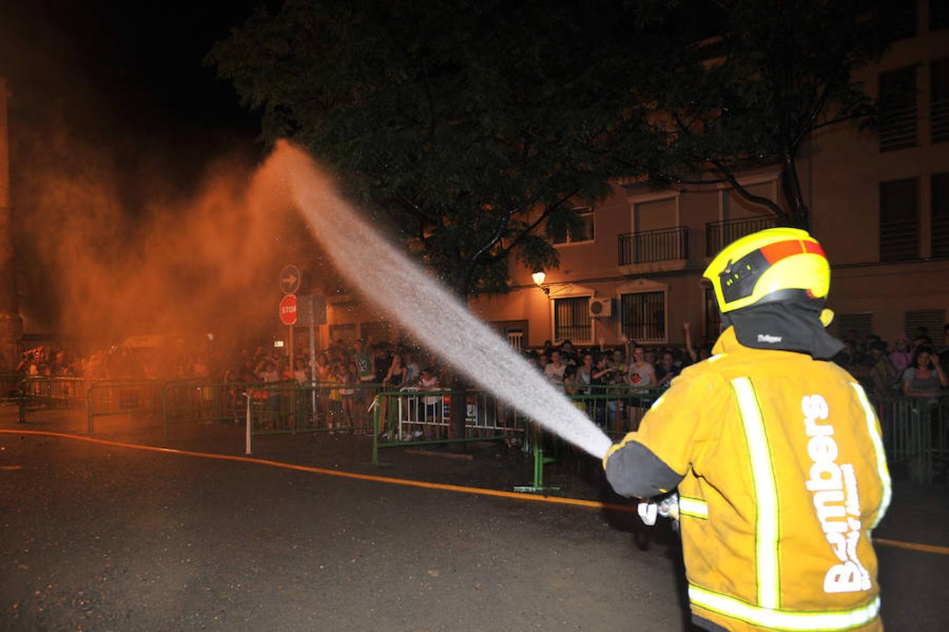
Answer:
[[610, 448], [607, 479], [629, 497], [678, 487], [699, 626], [882, 629], [869, 534], [890, 480], [864, 390], [828, 362], [842, 344], [825, 330], [823, 249], [805, 231], [755, 232], [704, 277], [727, 328]]

